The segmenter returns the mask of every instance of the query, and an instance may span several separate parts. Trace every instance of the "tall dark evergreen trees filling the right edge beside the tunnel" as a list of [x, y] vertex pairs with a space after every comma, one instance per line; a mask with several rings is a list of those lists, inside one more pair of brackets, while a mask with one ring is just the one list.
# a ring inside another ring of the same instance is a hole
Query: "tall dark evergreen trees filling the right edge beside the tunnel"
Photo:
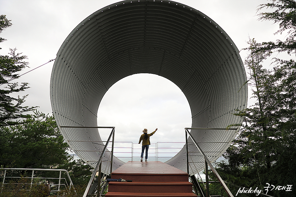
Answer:
[[[296, 196], [296, 2], [272, 0], [261, 4], [273, 12], [258, 14], [260, 20], [279, 24], [276, 34], [286, 33], [286, 39], [257, 43], [249, 39], [249, 55], [245, 66], [249, 70], [249, 86], [255, 104], [235, 115], [244, 119], [236, 139], [224, 153], [225, 161], [217, 163], [217, 171], [227, 181], [232, 193], [239, 187], [259, 187], [263, 193], [270, 185], [293, 185], [292, 191], [269, 188], [272, 196]], [[294, 59], [266, 59], [273, 53], [288, 53]], [[272, 65], [265, 69], [264, 64]], [[218, 186], [212, 186], [219, 193]], [[243, 196], [244, 194], [240, 194]]]

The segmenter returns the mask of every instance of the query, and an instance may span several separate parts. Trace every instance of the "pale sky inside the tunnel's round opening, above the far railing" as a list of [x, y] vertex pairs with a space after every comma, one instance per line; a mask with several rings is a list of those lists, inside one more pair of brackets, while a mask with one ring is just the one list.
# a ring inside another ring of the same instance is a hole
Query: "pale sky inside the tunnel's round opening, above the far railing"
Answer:
[[[143, 73], [125, 77], [111, 86], [101, 100], [97, 116], [98, 125], [116, 127], [116, 142], [138, 143], [144, 127], [148, 132], [158, 127], [158, 135], [153, 136], [151, 143], [184, 144], [184, 125], [191, 126], [192, 117], [178, 86], [159, 75]], [[100, 132], [100, 136], [104, 140], [109, 133]]]

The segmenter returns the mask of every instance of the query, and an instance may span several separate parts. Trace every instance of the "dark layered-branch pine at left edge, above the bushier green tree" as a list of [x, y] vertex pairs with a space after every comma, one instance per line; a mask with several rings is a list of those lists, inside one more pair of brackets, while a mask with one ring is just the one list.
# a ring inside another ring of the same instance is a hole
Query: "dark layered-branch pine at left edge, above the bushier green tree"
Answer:
[[[0, 15], [0, 34], [11, 25], [6, 15]], [[0, 43], [4, 41], [4, 38], [0, 38]], [[28, 95], [16, 98], [11, 95], [29, 88], [27, 82], [21, 84], [14, 81], [10, 82], [19, 78], [17, 72], [28, 67], [28, 62], [25, 62], [25, 59], [27, 59], [27, 56], [16, 53], [16, 49], [10, 49], [8, 55], [0, 55], [0, 126], [18, 124], [18, 119], [30, 117], [26, 113], [36, 108], [22, 106]]]

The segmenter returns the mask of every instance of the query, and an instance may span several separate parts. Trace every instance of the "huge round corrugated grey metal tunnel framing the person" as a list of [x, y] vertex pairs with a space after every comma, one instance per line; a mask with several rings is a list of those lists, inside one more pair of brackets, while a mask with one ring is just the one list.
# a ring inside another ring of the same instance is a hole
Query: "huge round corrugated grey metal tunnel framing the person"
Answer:
[[[72, 150], [89, 165], [95, 167], [97, 150], [102, 149], [102, 144], [91, 142], [101, 140], [98, 129], [61, 126], [96, 127], [104, 94], [120, 79], [139, 73], [165, 77], [183, 91], [192, 127], [241, 123], [233, 113], [247, 104], [245, 69], [239, 50], [220, 26], [177, 2], [118, 2], [76, 26], [60, 47], [51, 74], [55, 120]], [[219, 158], [236, 136], [233, 130], [192, 130], [191, 134], [210, 161]], [[189, 149], [193, 175], [204, 167], [204, 159], [194, 153], [194, 146]], [[114, 158], [112, 170], [123, 163]], [[185, 149], [166, 163], [186, 171]]]

